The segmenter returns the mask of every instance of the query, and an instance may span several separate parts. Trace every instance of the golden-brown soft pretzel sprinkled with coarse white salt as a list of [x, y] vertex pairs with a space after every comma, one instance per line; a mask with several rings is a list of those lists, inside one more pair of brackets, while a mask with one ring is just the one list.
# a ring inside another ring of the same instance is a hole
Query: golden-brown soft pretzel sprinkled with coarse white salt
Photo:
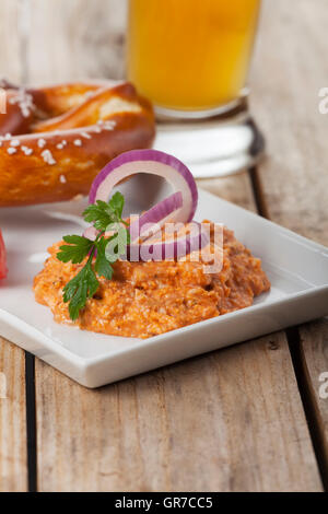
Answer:
[[86, 195], [109, 160], [152, 144], [153, 109], [130, 83], [0, 85], [8, 93], [0, 115], [0, 207]]

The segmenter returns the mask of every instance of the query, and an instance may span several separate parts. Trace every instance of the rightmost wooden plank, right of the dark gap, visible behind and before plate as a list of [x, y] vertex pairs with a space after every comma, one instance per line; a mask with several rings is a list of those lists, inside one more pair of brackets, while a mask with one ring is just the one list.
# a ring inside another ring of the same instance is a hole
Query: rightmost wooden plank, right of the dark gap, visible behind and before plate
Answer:
[[[319, 113], [327, 85], [325, 56], [327, 2], [267, 1], [253, 74], [253, 108], [268, 138], [260, 175], [270, 218], [328, 245], [328, 115]], [[281, 45], [274, 42], [284, 42]], [[273, 108], [272, 108], [273, 107]], [[328, 371], [327, 320], [300, 328], [301, 360], [313, 401], [328, 474], [328, 400], [319, 398], [318, 377]], [[328, 480], [328, 475], [327, 475]]]

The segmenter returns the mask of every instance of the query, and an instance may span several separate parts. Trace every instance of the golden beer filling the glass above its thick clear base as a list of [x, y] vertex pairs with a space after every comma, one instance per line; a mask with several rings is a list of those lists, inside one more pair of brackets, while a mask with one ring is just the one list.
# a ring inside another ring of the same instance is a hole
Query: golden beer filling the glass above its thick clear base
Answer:
[[130, 0], [127, 73], [168, 117], [207, 118], [245, 95], [260, 0]]

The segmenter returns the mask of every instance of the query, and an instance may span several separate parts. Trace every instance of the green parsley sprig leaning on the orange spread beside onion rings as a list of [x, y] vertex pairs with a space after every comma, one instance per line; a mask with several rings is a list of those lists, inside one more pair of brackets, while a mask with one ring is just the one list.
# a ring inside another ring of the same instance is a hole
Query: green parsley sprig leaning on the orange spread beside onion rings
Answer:
[[[79, 317], [86, 300], [96, 293], [99, 287], [97, 276], [112, 279], [112, 265], [125, 253], [130, 242], [128, 223], [121, 218], [124, 205], [124, 196], [115, 192], [108, 202], [97, 200], [84, 210], [84, 220], [93, 223], [99, 231], [95, 241], [81, 235], [62, 237], [67, 244], [59, 248], [59, 260], [80, 264], [87, 257], [84, 267], [63, 288], [63, 301], [69, 302], [69, 313], [73, 320]], [[106, 237], [105, 232], [110, 232], [110, 237]]]

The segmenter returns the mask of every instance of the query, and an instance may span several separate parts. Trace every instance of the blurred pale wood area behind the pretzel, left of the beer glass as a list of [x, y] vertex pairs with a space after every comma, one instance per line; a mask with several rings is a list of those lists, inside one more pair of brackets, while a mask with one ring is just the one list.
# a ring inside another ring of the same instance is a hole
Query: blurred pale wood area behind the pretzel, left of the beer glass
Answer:
[[0, 72], [46, 83], [125, 73], [127, 0], [0, 0]]

